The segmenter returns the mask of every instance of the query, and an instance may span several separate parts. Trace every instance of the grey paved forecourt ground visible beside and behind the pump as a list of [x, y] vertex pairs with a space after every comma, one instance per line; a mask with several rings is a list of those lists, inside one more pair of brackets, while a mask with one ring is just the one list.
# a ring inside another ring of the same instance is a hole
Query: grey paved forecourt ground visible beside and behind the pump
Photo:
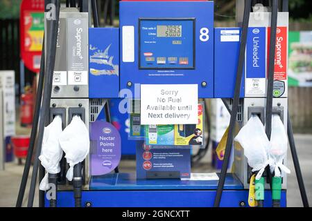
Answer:
[[[312, 135], [295, 135], [295, 142], [297, 145], [297, 153], [302, 167], [302, 174], [306, 185], [306, 192], [308, 193], [309, 201], [312, 204]], [[207, 166], [210, 162], [211, 152], [209, 151], [205, 157], [204, 162], [193, 171], [211, 171], [211, 167]], [[130, 172], [135, 170], [135, 162], [129, 160], [123, 161], [120, 165], [121, 171]], [[295, 169], [291, 158], [291, 152], [288, 151], [288, 168], [291, 169], [291, 175], [288, 175], [288, 206], [302, 206], [300, 191], [295, 176]], [[0, 206], [15, 206], [19, 184], [21, 182], [21, 174], [24, 166], [17, 165], [17, 162], [6, 164], [6, 170], [0, 171]], [[28, 185], [30, 180], [28, 179]], [[26, 206], [28, 198], [29, 186], [26, 188], [26, 195], [24, 198], [24, 206]], [[38, 191], [36, 191], [34, 206], [38, 205]]]

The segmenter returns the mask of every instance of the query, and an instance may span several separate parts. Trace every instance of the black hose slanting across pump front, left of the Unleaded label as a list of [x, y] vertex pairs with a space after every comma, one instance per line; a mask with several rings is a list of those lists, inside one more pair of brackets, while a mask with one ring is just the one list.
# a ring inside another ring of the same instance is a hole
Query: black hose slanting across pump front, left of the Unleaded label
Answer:
[[227, 167], [229, 164], [229, 157], [231, 154], [232, 144], [233, 144], [233, 135], [234, 135], [234, 126], [236, 122], [237, 109], [239, 107], [239, 95], [241, 90], [241, 79], [243, 77], [243, 66], [245, 61], [245, 48], [247, 41], [251, 1], [245, 1], [244, 15], [243, 15], [243, 28], [241, 33], [241, 44], [239, 46], [239, 64], [236, 70], [236, 82], [234, 88], [234, 98], [231, 111], [231, 118], [229, 120], [229, 133], [227, 135], [227, 144], [225, 147], [225, 155], [223, 160], [223, 165], [221, 173], [219, 176], [218, 189], [216, 190], [216, 198], [214, 200], [214, 207], [220, 206], [220, 200], [223, 193], [223, 186], [225, 183], [225, 176], [227, 175]]

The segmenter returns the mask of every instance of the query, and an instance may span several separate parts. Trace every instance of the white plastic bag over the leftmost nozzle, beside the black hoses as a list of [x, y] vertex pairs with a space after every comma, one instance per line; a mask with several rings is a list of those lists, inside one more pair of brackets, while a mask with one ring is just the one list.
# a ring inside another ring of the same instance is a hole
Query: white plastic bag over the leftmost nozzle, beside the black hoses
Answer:
[[60, 173], [60, 160], [62, 159], [63, 151], [60, 148], [58, 137], [62, 133], [62, 118], [56, 116], [53, 122], [44, 128], [42, 139], [42, 150], [39, 160], [42, 166], [46, 169], [46, 175], [40, 182], [39, 189], [46, 191], [49, 189], [48, 173]]

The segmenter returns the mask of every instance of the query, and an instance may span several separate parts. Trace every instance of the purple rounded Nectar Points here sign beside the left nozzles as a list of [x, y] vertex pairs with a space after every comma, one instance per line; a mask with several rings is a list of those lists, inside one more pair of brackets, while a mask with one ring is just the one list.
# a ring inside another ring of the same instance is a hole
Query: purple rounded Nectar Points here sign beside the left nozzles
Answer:
[[121, 160], [121, 137], [110, 123], [91, 123], [91, 175], [104, 175], [113, 171]]

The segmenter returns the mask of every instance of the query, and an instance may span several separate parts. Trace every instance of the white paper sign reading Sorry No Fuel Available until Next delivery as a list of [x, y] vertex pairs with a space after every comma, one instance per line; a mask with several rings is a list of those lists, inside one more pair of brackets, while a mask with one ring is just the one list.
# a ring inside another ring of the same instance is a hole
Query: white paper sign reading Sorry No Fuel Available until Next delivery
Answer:
[[141, 84], [141, 124], [198, 124], [198, 85]]

